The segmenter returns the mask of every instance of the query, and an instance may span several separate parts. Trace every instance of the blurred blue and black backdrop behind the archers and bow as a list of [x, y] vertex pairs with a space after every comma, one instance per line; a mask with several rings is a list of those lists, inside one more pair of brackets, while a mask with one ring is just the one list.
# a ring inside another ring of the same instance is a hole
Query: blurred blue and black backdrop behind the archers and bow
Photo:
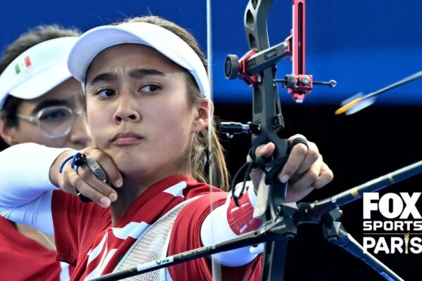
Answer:
[[[212, 77], [215, 113], [225, 121], [248, 122], [251, 89], [224, 79], [226, 54], [248, 51], [243, 13], [248, 1], [212, 1]], [[82, 31], [136, 15], [160, 15], [191, 30], [207, 50], [205, 0], [39, 0], [4, 1], [0, 51], [31, 27], [58, 23]], [[280, 89], [288, 137], [302, 133], [318, 146], [335, 178], [304, 201], [322, 199], [388, 174], [422, 157], [422, 79], [379, 96], [375, 105], [351, 116], [333, 114], [340, 102], [358, 92], [371, 93], [422, 70], [422, 2], [418, 0], [307, 1], [306, 72], [316, 81], [335, 79], [338, 86], [314, 86], [297, 105]], [[275, 45], [291, 29], [291, 1], [277, 0], [269, 14], [269, 39]], [[211, 51], [210, 51], [211, 52]], [[290, 60], [278, 76], [291, 73]], [[250, 138], [222, 136], [231, 174], [245, 161]], [[392, 185], [385, 192], [419, 192], [422, 177]], [[422, 201], [422, 200], [420, 200]], [[418, 203], [419, 211], [422, 204]], [[343, 207], [343, 225], [362, 242], [362, 200]], [[420, 280], [417, 254], [378, 254], [405, 280]], [[362, 261], [329, 244], [321, 226], [300, 226], [289, 243], [286, 280], [383, 280]]]

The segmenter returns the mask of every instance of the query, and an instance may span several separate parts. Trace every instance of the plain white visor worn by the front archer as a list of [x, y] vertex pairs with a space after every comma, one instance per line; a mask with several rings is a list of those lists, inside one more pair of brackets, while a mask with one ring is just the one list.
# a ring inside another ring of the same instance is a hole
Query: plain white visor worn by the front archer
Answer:
[[176, 34], [147, 22], [126, 22], [120, 25], [104, 25], [82, 34], [69, 55], [70, 73], [81, 81], [85, 79], [89, 65], [101, 51], [120, 44], [142, 44], [155, 48], [167, 58], [184, 67], [195, 78], [200, 92], [210, 96], [210, 82], [198, 55]]

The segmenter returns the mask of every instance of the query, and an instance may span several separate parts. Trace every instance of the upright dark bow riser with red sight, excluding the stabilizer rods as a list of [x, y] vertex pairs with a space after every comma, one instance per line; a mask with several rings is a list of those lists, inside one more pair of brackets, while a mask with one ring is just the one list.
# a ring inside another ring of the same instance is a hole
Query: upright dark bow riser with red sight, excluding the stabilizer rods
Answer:
[[[227, 79], [239, 78], [252, 86], [252, 122], [222, 122], [220, 125], [220, 131], [229, 137], [234, 133], [251, 134], [252, 151], [264, 143], [272, 142], [276, 145], [272, 162], [277, 163], [275, 166], [267, 166], [267, 171], [275, 172], [271, 178], [266, 179], [270, 187], [268, 195], [262, 200], [265, 207], [260, 211], [264, 221], [276, 225], [268, 233], [272, 236], [271, 241], [265, 243], [261, 280], [283, 280], [287, 240], [296, 233], [295, 223], [290, 217], [295, 207], [287, 204], [282, 207], [287, 183], [281, 183], [276, 178], [286, 162], [289, 150], [288, 141], [278, 136], [284, 122], [277, 83], [281, 82], [288, 89], [296, 103], [305, 100], [314, 84], [325, 84], [332, 88], [336, 85], [334, 80], [313, 81], [312, 75], [305, 72], [305, 0], [293, 0], [293, 30], [290, 36], [276, 46], [269, 46], [267, 18], [272, 3], [273, 0], [249, 1], [244, 24], [250, 51], [241, 59], [236, 55], [227, 55], [224, 64]], [[284, 79], [276, 79], [276, 63], [289, 56], [292, 58], [293, 73], [287, 74]], [[235, 185], [236, 176], [232, 189]], [[285, 219], [280, 220], [283, 217]]]

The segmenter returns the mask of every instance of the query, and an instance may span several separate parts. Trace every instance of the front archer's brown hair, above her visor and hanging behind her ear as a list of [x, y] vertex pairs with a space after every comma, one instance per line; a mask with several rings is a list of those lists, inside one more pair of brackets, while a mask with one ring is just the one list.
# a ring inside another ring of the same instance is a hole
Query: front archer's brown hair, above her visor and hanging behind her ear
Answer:
[[[163, 27], [166, 30], [170, 30], [185, 41], [193, 49], [193, 51], [195, 51], [202, 61], [205, 70], [207, 70], [207, 59], [205, 58], [203, 51], [200, 50], [198, 42], [192, 34], [183, 27], [154, 15], [129, 18], [124, 22], [147, 22]], [[191, 93], [189, 95], [190, 103], [202, 103], [206, 101], [207, 98], [200, 93], [195, 79], [191, 74], [189, 74], [189, 77], [188, 84]], [[212, 181], [214, 185], [218, 186], [222, 190], [230, 189], [229, 171], [227, 171], [226, 161], [224, 159], [224, 149], [219, 142], [219, 137], [217, 136], [215, 130], [214, 120], [212, 120], [210, 125], [210, 136], [207, 128], [196, 133], [196, 136], [193, 139], [190, 158], [193, 178], [202, 182]], [[210, 172], [208, 172], [208, 170]]]

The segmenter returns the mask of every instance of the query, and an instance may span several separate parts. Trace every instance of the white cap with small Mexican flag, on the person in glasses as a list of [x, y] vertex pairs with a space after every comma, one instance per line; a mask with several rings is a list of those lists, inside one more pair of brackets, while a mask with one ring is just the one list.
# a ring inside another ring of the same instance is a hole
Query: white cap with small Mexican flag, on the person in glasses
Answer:
[[30, 100], [44, 95], [72, 77], [68, 56], [77, 37], [60, 37], [41, 42], [6, 67], [0, 75], [0, 109], [8, 95]]

